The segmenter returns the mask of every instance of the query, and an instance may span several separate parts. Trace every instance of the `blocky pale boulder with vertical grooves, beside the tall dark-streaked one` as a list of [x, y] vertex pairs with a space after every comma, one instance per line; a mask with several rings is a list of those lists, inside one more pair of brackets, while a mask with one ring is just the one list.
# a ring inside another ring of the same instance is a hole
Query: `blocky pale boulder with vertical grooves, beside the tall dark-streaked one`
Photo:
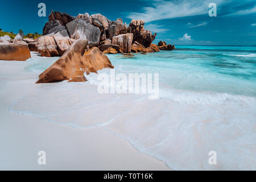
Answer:
[[112, 44], [120, 47], [121, 52], [131, 52], [131, 44], [133, 44], [133, 34], [121, 34], [113, 36]]

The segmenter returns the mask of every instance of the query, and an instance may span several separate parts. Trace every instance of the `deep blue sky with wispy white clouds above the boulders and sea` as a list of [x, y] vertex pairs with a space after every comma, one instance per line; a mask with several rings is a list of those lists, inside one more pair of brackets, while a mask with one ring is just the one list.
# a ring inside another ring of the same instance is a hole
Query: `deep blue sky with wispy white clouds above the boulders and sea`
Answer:
[[[129, 0], [129, 1], [1, 1], [0, 28], [4, 31], [42, 34], [51, 10], [77, 16], [101, 13], [110, 20], [142, 19], [156, 32], [155, 43], [256, 46], [256, 0]], [[38, 16], [38, 4], [46, 4], [46, 17]], [[216, 3], [217, 16], [208, 15]]]

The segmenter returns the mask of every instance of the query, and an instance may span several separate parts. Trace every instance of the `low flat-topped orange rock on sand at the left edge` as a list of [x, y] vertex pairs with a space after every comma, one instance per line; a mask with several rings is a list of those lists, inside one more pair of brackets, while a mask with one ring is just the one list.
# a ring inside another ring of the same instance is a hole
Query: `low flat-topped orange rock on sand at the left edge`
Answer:
[[30, 58], [30, 49], [27, 44], [1, 43], [0, 60], [26, 61]]

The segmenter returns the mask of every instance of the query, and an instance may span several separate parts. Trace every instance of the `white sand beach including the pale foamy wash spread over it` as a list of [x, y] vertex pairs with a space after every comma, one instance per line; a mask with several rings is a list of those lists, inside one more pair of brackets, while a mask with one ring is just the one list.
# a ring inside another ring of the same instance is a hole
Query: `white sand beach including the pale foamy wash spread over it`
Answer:
[[[116, 72], [129, 68], [132, 59], [115, 56]], [[255, 169], [254, 97], [172, 88], [171, 99], [100, 94], [96, 73], [87, 82], [35, 84], [57, 59], [33, 52], [0, 61], [0, 169]]]

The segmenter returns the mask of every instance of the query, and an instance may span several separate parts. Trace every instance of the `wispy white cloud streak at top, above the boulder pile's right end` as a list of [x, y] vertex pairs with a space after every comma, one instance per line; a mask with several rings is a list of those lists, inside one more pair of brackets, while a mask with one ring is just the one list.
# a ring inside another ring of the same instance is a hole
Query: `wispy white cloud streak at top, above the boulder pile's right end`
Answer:
[[[205, 0], [152, 1], [152, 6], [144, 7], [143, 12], [130, 13], [127, 17], [152, 22], [160, 19], [208, 14], [209, 2], [210, 1]], [[214, 2], [217, 3], [217, 5], [221, 5], [224, 0], [215, 0]]]

